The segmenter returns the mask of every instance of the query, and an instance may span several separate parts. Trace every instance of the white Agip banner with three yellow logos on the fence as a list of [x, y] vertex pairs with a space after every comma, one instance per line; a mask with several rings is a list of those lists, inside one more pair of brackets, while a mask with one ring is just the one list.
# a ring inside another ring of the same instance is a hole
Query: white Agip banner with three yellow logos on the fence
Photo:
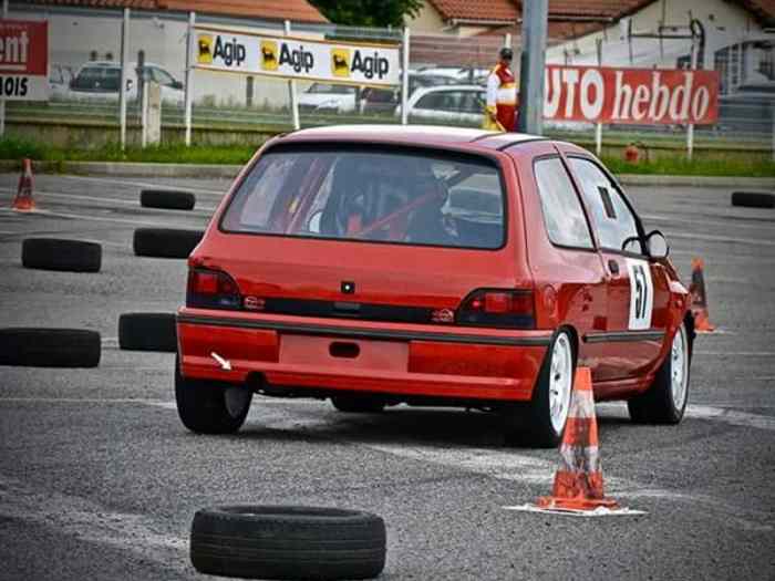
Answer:
[[197, 69], [358, 85], [401, 83], [397, 45], [195, 30]]

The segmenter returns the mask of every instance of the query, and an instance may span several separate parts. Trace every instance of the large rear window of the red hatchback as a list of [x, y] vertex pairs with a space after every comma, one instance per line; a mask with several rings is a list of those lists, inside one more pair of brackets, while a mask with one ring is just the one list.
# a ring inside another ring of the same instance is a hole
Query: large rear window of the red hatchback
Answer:
[[276, 147], [229, 203], [227, 232], [496, 249], [499, 170], [485, 157], [403, 149]]

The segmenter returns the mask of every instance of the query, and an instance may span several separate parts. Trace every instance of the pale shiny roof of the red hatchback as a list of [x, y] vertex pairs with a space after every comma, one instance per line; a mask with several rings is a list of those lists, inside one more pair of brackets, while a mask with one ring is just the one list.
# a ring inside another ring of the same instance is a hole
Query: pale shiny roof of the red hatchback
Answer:
[[438, 125], [330, 125], [286, 134], [286, 143], [368, 142], [392, 145], [465, 145], [500, 148], [546, 137]]

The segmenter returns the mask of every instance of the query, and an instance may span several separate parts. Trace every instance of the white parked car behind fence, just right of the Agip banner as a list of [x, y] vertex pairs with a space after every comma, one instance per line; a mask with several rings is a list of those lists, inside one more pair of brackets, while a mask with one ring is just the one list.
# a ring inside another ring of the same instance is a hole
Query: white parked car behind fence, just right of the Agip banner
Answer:
[[442, 85], [418, 89], [406, 106], [413, 121], [479, 126], [486, 102], [484, 86]]

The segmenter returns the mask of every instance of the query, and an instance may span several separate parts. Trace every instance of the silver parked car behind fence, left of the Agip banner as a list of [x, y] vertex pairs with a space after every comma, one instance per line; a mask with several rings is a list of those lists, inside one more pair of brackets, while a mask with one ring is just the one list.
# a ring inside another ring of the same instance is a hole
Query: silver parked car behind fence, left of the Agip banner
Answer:
[[[183, 83], [157, 64], [145, 63], [143, 79], [162, 85], [162, 101], [182, 105], [184, 101]], [[82, 65], [70, 83], [69, 96], [81, 100], [112, 101], [118, 98], [121, 85], [121, 63], [113, 61], [92, 61]], [[126, 75], [126, 96], [137, 98], [137, 63], [130, 63]]]

